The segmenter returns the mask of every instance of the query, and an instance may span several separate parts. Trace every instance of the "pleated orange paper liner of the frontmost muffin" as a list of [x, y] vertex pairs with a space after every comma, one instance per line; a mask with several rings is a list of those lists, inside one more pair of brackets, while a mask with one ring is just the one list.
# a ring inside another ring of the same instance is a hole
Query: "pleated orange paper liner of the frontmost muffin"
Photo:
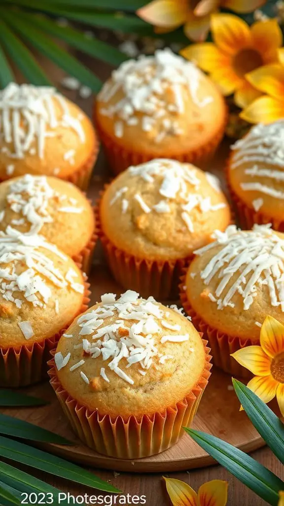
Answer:
[[[202, 341], [206, 364], [195, 387], [174, 406], [152, 415], [111, 417], [102, 415], [99, 411], [89, 410], [62, 387], [57, 377], [54, 359], [49, 362], [50, 382], [73, 431], [84, 444], [110, 457], [130, 459], [148, 457], [175, 444], [184, 434], [183, 427], [189, 427], [192, 423], [211, 374], [210, 349], [206, 347], [207, 342]], [[53, 355], [55, 352], [56, 350], [53, 351]]]

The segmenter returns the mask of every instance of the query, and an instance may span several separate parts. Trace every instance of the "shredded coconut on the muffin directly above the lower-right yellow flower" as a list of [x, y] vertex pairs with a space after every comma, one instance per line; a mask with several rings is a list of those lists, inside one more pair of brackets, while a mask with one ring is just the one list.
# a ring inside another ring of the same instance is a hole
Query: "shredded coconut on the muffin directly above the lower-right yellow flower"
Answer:
[[[230, 225], [224, 233], [216, 231], [215, 239], [195, 254], [202, 256], [216, 245], [222, 246], [200, 273], [205, 285], [209, 285], [213, 277], [219, 281], [210, 297], [217, 308], [234, 307], [234, 295], [241, 294], [246, 311], [262, 285], [267, 285], [271, 305], [284, 311], [284, 240], [270, 225], [254, 225], [250, 231]], [[236, 273], [235, 281], [228, 286]]]

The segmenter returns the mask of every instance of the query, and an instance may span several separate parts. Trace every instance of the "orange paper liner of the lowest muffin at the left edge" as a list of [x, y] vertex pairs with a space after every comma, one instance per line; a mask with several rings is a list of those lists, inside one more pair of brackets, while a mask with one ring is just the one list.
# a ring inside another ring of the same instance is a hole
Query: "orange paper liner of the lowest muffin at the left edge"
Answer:
[[[87, 310], [89, 304], [89, 283], [84, 279], [84, 297], [81, 309], [74, 318]], [[0, 387], [26, 387], [40, 382], [48, 371], [47, 362], [51, 351], [58, 343], [72, 320], [60, 332], [39, 343], [23, 345], [19, 349], [13, 347], [0, 349]]]

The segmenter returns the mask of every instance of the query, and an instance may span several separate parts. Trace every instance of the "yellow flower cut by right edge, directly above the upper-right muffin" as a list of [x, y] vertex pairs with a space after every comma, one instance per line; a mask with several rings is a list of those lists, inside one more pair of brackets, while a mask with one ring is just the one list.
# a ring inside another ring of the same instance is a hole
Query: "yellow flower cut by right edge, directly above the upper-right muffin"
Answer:
[[[284, 64], [284, 48], [278, 50]], [[258, 98], [240, 114], [249, 123], [271, 123], [284, 117], [284, 66], [265, 65], [247, 74], [248, 81], [266, 95]]]

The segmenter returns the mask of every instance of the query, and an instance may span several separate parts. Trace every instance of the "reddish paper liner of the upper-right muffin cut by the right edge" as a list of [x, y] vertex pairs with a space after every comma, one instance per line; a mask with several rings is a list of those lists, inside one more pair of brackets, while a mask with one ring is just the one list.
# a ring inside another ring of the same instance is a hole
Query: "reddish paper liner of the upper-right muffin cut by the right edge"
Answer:
[[[229, 180], [230, 158], [231, 157], [229, 156], [226, 162], [226, 180], [230, 192], [230, 197], [233, 201], [234, 207], [238, 214], [239, 224], [241, 228], [245, 230], [250, 230], [251, 228], [253, 228], [255, 223], [258, 225], [266, 225], [267, 223], [271, 223], [273, 230], [276, 230], [278, 232], [284, 232], [284, 220], [272, 218], [271, 216], [262, 214], [260, 211], [256, 211], [253, 207], [249, 207], [234, 192]], [[273, 209], [273, 206], [271, 206], [271, 208]]]

